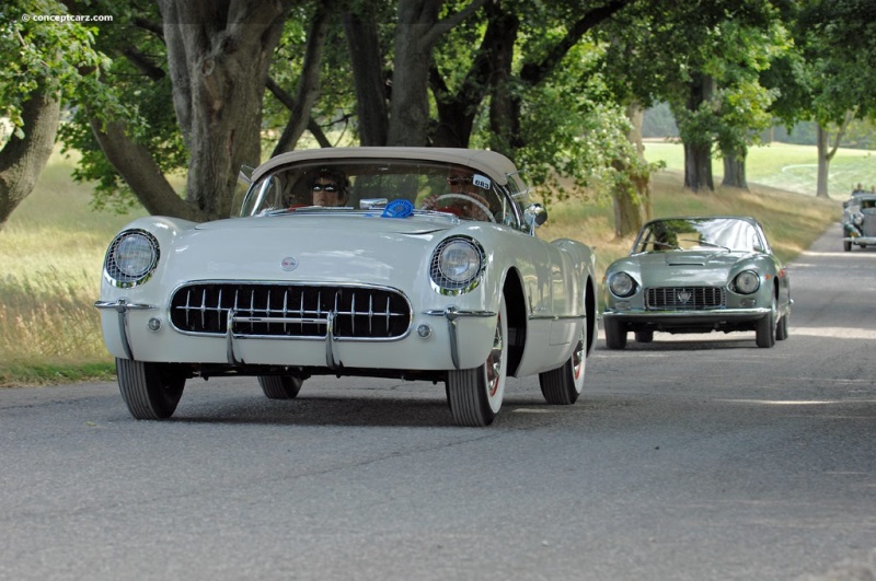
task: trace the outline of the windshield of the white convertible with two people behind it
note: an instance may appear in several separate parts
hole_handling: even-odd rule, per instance
[[[241,216],[374,210],[406,200],[414,210],[521,228],[519,184],[510,191],[460,165],[414,160],[320,160],[279,167],[250,186]]]

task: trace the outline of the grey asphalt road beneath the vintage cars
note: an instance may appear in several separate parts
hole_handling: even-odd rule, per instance
[[[876,249],[791,268],[791,337],[657,334],[486,429],[443,387],[189,382],[174,419],[115,384],[0,390],[0,579],[784,580],[876,547]]]

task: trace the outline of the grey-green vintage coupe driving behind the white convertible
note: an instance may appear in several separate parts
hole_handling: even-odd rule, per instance
[[[788,274],[752,218],[653,220],[609,266],[604,289],[609,349],[626,347],[630,332],[650,342],[655,332],[753,330],[758,347],[788,336]]]

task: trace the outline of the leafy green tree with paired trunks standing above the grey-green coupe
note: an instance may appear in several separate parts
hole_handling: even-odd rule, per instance
[[[772,98],[757,73],[781,38],[777,19],[770,0],[658,0],[637,2],[611,30],[611,70],[629,84],[630,98],[672,108],[688,188],[714,189],[716,149],[734,158],[736,184],[744,183],[747,144]]]

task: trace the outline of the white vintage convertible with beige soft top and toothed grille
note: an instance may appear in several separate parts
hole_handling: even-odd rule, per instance
[[[573,404],[595,256],[537,237],[527,193],[491,151],[336,148],[264,163],[238,218],[135,220],[95,303],[128,410],[169,418],[187,380],[219,375],[275,399],[312,375],[443,382],[463,426],[493,421],[508,376]]]

